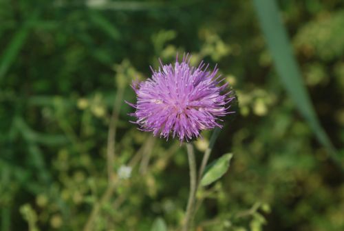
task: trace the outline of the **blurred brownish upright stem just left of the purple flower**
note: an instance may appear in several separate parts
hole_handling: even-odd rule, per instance
[[[109,124],[109,133],[107,135],[107,175],[109,184],[114,181],[114,161],[115,161],[115,145],[116,145],[116,130],[119,116],[120,106],[122,106],[122,98],[125,88],[119,85],[116,92],[116,99],[112,108],[112,114]]]

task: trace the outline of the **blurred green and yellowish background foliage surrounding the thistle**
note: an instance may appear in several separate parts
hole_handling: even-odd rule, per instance
[[[344,3],[279,6],[343,157]],[[122,100],[135,101],[131,81],[177,52],[218,63],[240,106],[211,155],[232,152],[230,169],[197,193],[195,230],[344,230],[343,174],[277,77],[251,1],[1,0],[0,21],[0,230],[83,230],[94,208],[92,230],[180,227],[186,150],[138,131]],[[195,141],[198,163],[210,134]],[[129,178],[121,166],[131,166]]]

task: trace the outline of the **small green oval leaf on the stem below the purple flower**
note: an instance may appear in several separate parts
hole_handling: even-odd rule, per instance
[[[209,163],[204,170],[204,175],[201,180],[201,185],[206,186],[214,181],[217,181],[221,178],[228,170],[230,159],[232,159],[233,154],[228,153],[224,154],[219,159],[216,159],[212,163]]]

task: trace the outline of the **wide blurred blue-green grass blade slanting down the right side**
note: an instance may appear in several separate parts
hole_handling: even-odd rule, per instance
[[[327,149],[331,159],[338,165],[341,165],[341,158],[336,154],[334,146],[321,127],[308,92],[303,85],[301,71],[299,70],[297,61],[292,54],[288,34],[281,21],[276,1],[253,0],[253,2],[255,9],[257,10],[261,29],[264,32],[266,43],[270,53],[272,54],[275,68],[284,87],[296,104],[299,112],[301,112],[316,134],[319,142]]]

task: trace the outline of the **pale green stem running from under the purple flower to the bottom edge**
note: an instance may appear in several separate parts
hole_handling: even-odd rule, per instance
[[[197,190],[197,170],[195,152],[193,151],[193,144],[186,143],[186,150],[188,151],[189,169],[190,169],[190,193],[188,205],[186,206],[185,221],[182,230],[188,231],[192,220],[193,207],[195,205],[195,197]]]

